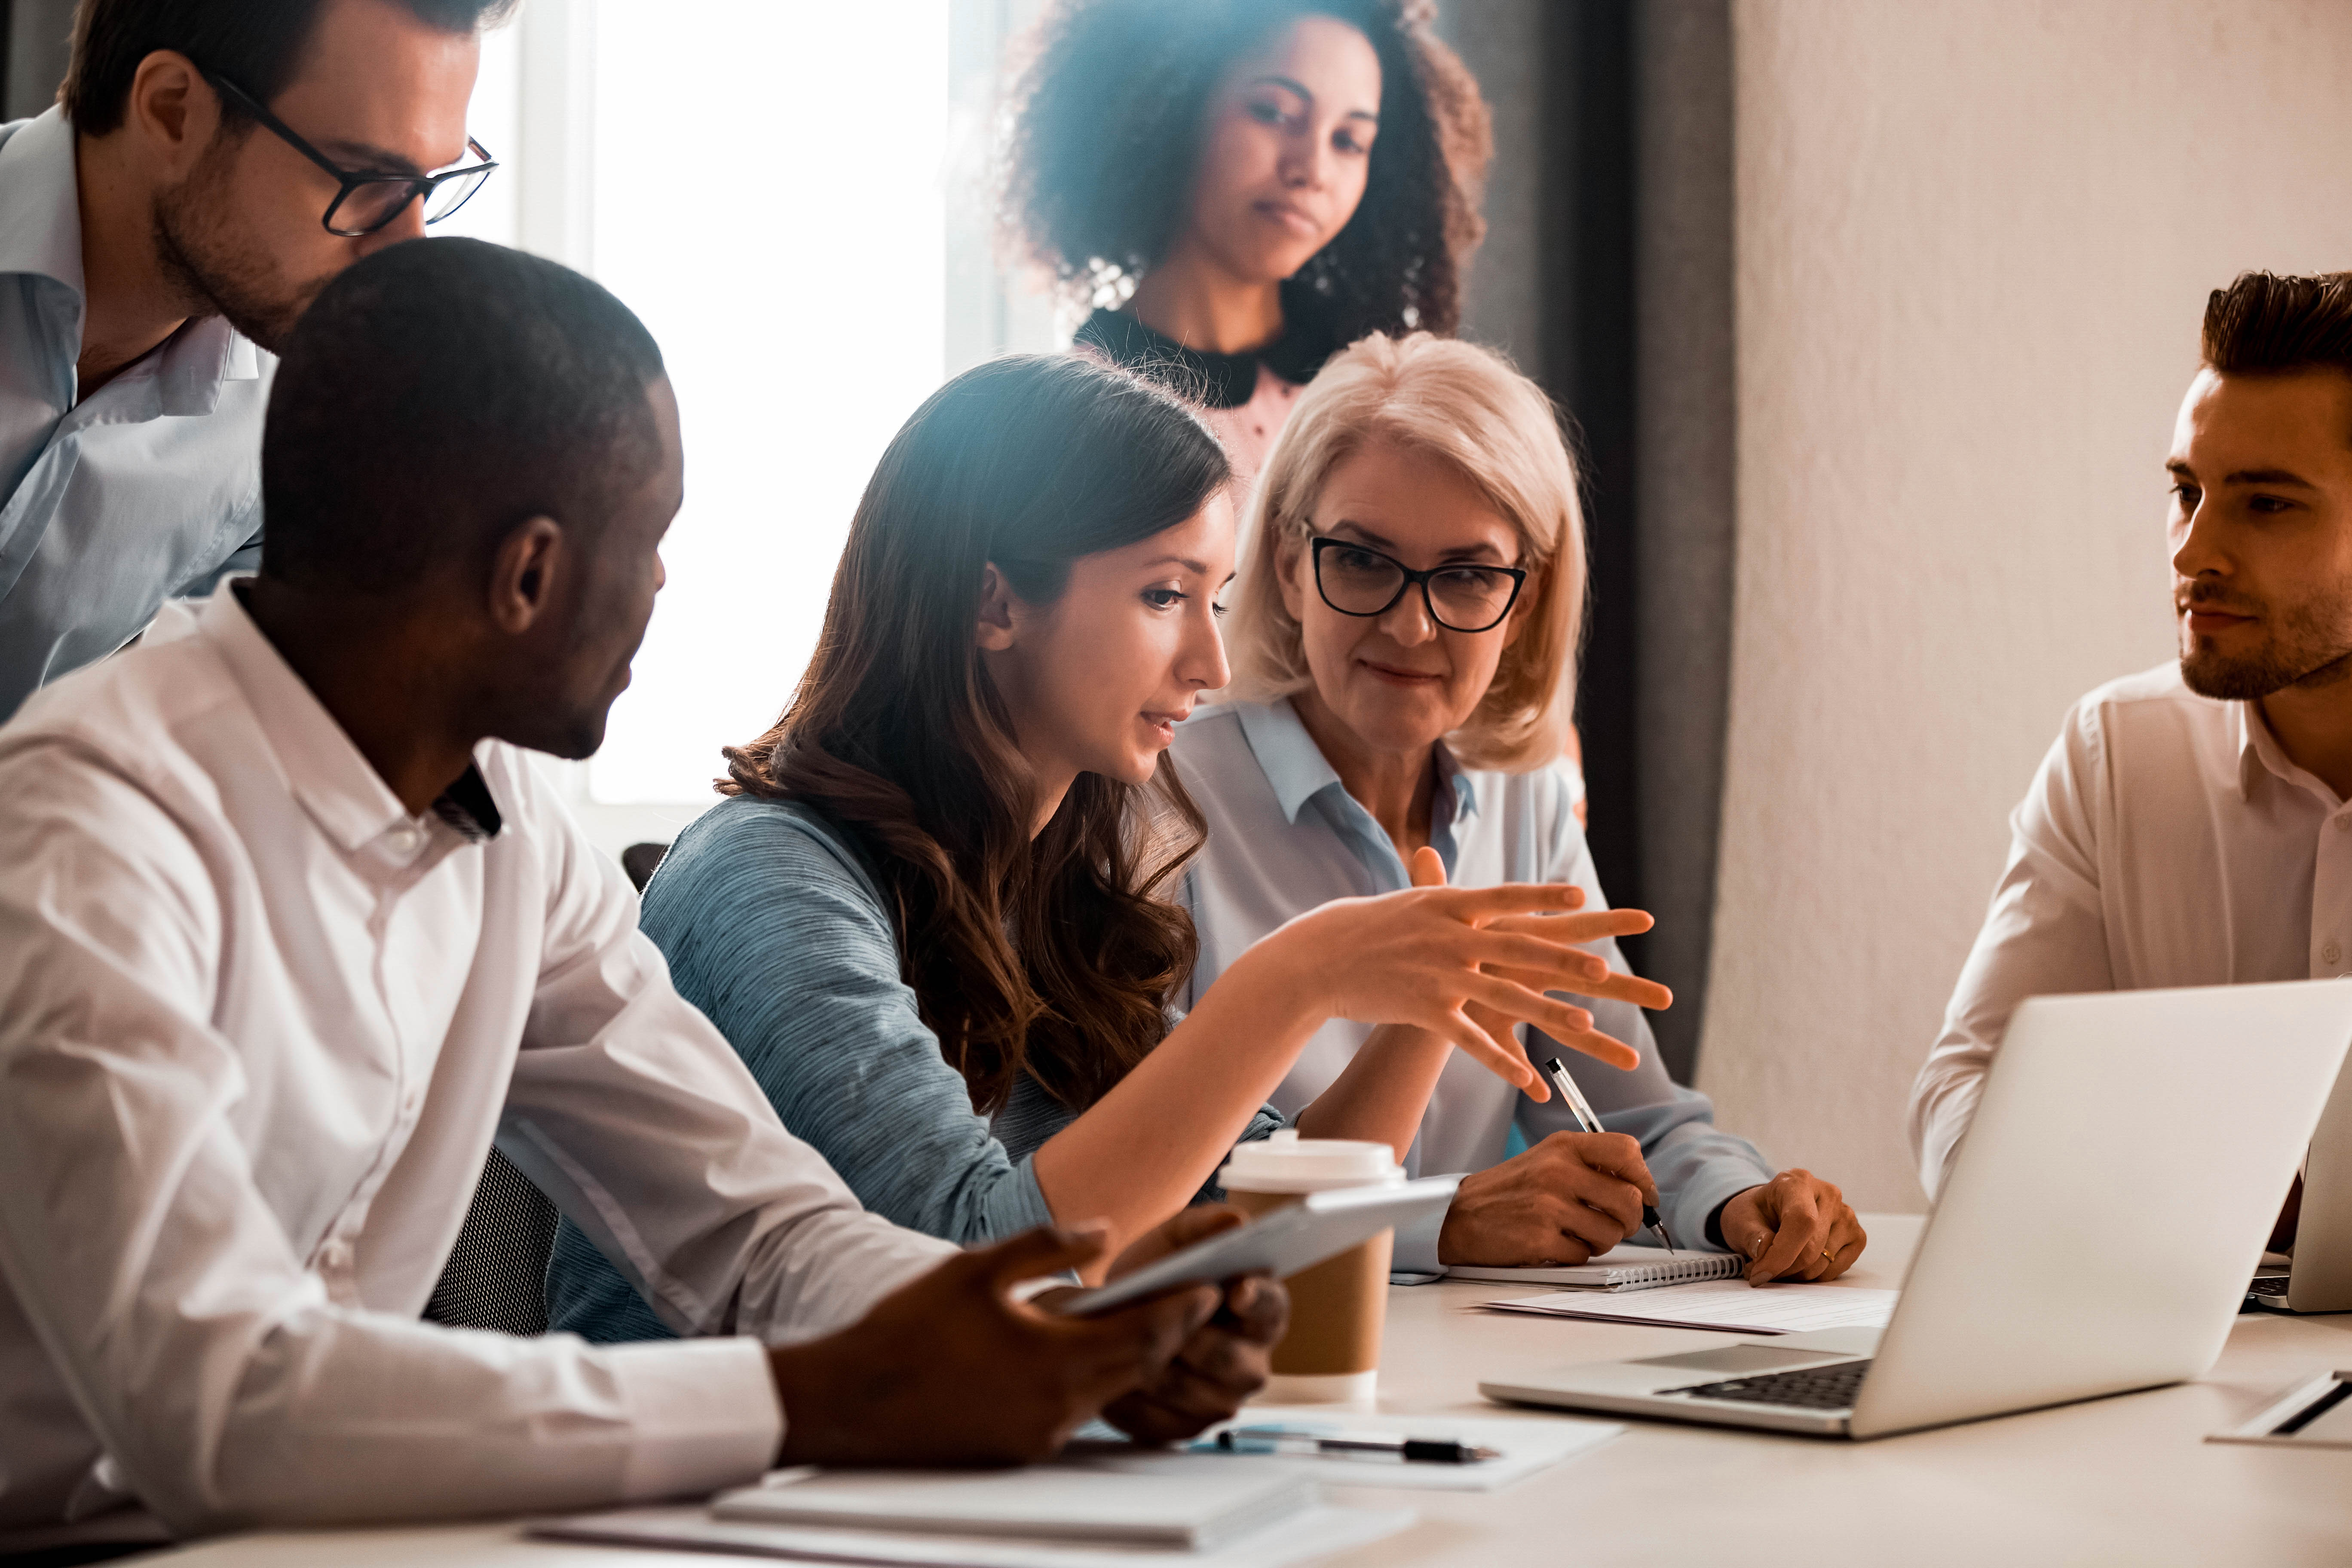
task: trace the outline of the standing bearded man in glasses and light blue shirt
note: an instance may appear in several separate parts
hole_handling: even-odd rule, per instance
[[[261,550],[273,353],[329,277],[496,167],[513,0],[82,0],[0,127],[0,719]]]

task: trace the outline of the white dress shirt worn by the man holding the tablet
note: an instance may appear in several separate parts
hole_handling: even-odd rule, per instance
[[[783,1131],[522,752],[409,816],[233,585],[0,729],[0,1530],[757,1476],[757,1338],[419,1321],[492,1138],[680,1333],[953,1255]]]

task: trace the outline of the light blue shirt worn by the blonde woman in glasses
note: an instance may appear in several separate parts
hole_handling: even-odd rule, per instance
[[[1287,701],[1202,708],[1176,726],[1169,755],[1209,818],[1209,842],[1183,882],[1183,900],[1200,931],[1200,961],[1185,1006],[1251,943],[1296,914],[1334,898],[1411,886],[1397,846],[1348,795]],[[1444,858],[1454,886],[1571,882],[1585,891],[1588,910],[1609,907],[1576,823],[1566,769],[1463,769],[1444,745],[1437,748],[1437,769],[1442,783],[1430,802],[1430,846]],[[1588,952],[1609,959],[1611,969],[1625,966],[1613,940],[1590,943]],[[1630,1001],[1578,1001],[1592,1009],[1602,1032],[1639,1051],[1642,1063],[1621,1072],[1562,1051],[1564,1065],[1592,1100],[1602,1126],[1642,1145],[1675,1241],[1708,1246],[1715,1211],[1771,1180],[1771,1166],[1748,1140],[1717,1131],[1715,1107],[1703,1093],[1665,1074],[1642,1009]],[[1371,1025],[1345,1018],[1315,1030],[1275,1091],[1275,1110],[1296,1121],[1345,1072],[1367,1034]],[[1541,1034],[1534,1039],[1545,1044]],[[1543,1060],[1541,1051],[1536,1060]],[[1505,1159],[1512,1128],[1534,1145],[1550,1133],[1576,1131],[1576,1119],[1557,1093],[1536,1105],[1456,1051],[1437,1077],[1404,1166],[1414,1175],[1484,1171]],[[1435,1269],[1442,1225],[1444,1215],[1432,1215],[1428,1225],[1397,1232],[1397,1267]]]

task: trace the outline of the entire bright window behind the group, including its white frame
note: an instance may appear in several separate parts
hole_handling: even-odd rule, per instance
[[[499,179],[435,233],[524,244],[644,317],[677,388],[668,588],[567,790],[607,846],[713,802],[816,646],[889,437],[950,369],[1049,348],[983,200],[988,94],[1035,0],[534,0],[485,40]]]

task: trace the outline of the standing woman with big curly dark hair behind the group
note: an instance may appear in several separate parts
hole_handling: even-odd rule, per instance
[[[1242,498],[1331,353],[1461,317],[1486,106],[1432,16],[1061,0],[1030,42],[1007,223],[1098,306],[1082,346],[1204,404]]]

